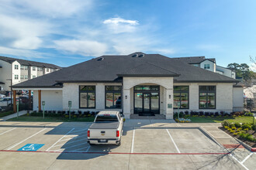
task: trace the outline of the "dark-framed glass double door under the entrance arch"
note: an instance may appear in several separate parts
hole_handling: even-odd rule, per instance
[[[159,93],[135,92],[134,114],[159,114]]]

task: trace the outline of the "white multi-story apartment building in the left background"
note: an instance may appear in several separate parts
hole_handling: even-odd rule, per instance
[[[0,91],[10,91],[11,82],[12,85],[22,83],[60,69],[50,63],[0,56]]]

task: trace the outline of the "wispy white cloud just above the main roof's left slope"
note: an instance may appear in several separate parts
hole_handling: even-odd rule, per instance
[[[96,41],[63,39],[54,42],[56,49],[82,56],[101,56],[107,50],[106,44]]]

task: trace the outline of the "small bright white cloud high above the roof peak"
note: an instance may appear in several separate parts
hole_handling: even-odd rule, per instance
[[[123,32],[135,32],[136,26],[139,25],[137,20],[129,20],[129,19],[122,19],[122,18],[111,18],[106,19],[104,22],[108,29],[112,33],[123,33]]]

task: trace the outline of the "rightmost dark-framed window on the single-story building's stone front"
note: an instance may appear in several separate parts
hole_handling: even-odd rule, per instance
[[[199,109],[216,108],[216,86],[199,86]]]

